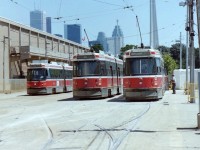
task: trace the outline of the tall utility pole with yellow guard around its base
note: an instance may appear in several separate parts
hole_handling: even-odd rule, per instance
[[[194,59],[194,0],[190,0],[189,3],[189,50],[190,50],[190,103],[195,102],[195,86],[194,86],[194,69],[195,69],[195,59]]]

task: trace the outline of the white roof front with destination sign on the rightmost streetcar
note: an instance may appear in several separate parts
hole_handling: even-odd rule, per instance
[[[162,57],[162,55],[159,50],[142,48],[127,50],[124,54],[124,58],[134,57]]]

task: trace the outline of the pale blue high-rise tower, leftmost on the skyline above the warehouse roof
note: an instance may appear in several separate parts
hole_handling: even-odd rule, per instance
[[[46,31],[45,12],[34,10],[30,12],[30,26],[42,31]]]

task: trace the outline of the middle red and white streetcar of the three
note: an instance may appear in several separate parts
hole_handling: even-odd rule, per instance
[[[104,52],[73,57],[73,97],[101,98],[122,93],[123,61]]]

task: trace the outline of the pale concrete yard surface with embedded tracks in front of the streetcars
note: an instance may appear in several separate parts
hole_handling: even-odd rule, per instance
[[[0,94],[0,149],[199,150],[198,111],[183,91],[152,102]]]

